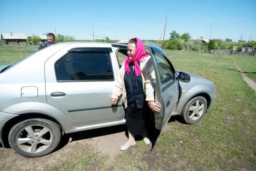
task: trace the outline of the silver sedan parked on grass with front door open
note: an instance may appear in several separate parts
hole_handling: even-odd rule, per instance
[[[174,115],[197,123],[216,98],[215,84],[175,71],[164,51],[147,42],[156,73],[155,128]],[[0,142],[24,157],[51,153],[64,134],[125,123],[111,93],[127,45],[58,43],[14,65],[0,66]]]

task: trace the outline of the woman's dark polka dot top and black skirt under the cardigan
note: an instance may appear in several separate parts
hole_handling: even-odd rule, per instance
[[[138,62],[140,65],[140,62]],[[124,74],[126,97],[128,107],[126,108],[126,126],[133,135],[147,132],[145,128],[145,114],[149,114],[149,108],[145,101],[142,76],[137,77],[133,69],[133,63],[129,64],[130,73]],[[148,113],[147,113],[147,112]]]

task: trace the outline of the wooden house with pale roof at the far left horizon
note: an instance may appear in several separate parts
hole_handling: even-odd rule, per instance
[[[26,44],[27,38],[25,34],[20,33],[2,33],[1,40],[3,44]]]

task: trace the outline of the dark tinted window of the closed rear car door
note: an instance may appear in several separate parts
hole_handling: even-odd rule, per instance
[[[56,62],[55,69],[58,81],[114,81],[106,51],[70,51]]]

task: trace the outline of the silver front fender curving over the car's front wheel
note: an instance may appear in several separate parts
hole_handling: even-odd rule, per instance
[[[210,97],[209,92],[211,92],[211,89],[210,89],[210,87],[208,87],[206,85],[197,85],[197,86],[189,89],[188,91],[181,88],[181,97],[179,99],[177,108],[174,111],[174,115],[179,115],[182,111],[182,108],[193,96],[203,93],[203,94],[208,94],[208,96]]]

